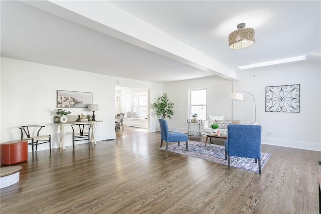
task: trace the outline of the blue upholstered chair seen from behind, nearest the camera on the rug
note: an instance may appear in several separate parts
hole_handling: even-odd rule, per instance
[[[225,159],[228,159],[230,170],[230,156],[258,159],[261,174],[261,126],[231,124],[227,126],[227,140],[225,141]]]

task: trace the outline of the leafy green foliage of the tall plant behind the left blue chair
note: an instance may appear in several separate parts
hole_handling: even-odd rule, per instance
[[[172,110],[173,106],[174,103],[169,102],[167,94],[165,93],[162,97],[159,97],[156,102],[151,104],[151,109],[155,110],[157,117],[161,117],[162,119],[168,117],[171,119],[171,115],[174,115]]]

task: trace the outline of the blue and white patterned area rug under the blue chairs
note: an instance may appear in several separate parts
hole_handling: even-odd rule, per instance
[[[160,149],[165,150],[166,147]],[[227,165],[225,147],[220,145],[211,144],[211,146],[205,146],[204,142],[189,141],[189,151],[186,151],[185,142],[181,142],[180,146],[178,143],[169,145],[168,151]],[[261,153],[261,168],[263,168],[270,155],[270,153]],[[255,163],[253,158],[230,156],[230,166],[254,172],[259,171],[258,163]]]

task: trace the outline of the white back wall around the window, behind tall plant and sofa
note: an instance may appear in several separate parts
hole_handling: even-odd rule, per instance
[[[174,115],[167,119],[169,127],[173,131],[187,132],[188,115],[188,90],[207,88],[209,99],[208,115],[224,115],[224,118],[232,118],[232,102],[229,100],[233,82],[221,77],[201,78],[195,80],[178,81],[164,84],[164,93],[167,93],[169,101],[174,103]],[[193,126],[193,127],[192,127]],[[191,129],[197,130],[198,126],[192,124]]]

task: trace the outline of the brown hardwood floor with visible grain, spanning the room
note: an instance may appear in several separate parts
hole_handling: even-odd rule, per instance
[[[320,152],[262,144],[271,156],[259,175],[159,145],[159,133],[125,127],[90,150],[29,154],[20,181],[1,189],[1,213],[319,212]]]

